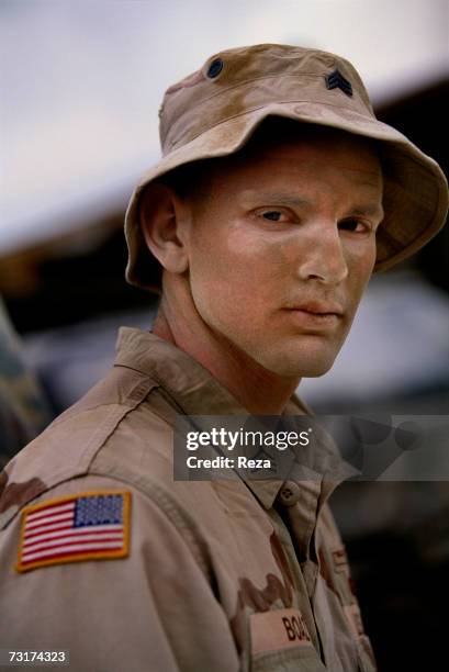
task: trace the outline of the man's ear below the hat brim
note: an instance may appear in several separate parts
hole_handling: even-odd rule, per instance
[[[149,250],[160,265],[172,273],[189,267],[186,249],[186,223],[190,209],[172,189],[153,182],[141,197],[141,231]]]

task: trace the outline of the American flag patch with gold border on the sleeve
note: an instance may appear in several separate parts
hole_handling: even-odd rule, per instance
[[[130,492],[86,492],[27,506],[15,569],[124,558],[128,555]]]

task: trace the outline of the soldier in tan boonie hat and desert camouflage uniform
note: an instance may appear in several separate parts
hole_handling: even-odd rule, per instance
[[[3,472],[0,641],[79,671],[375,670],[330,457],[306,481],[173,481],[173,423],[307,413],[301,377],[333,365],[372,270],[442,225],[445,178],[315,49],[213,56],[160,135],[125,223],[156,323]]]

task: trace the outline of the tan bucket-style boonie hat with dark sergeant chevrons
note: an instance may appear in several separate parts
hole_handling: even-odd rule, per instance
[[[138,200],[169,170],[240,149],[268,116],[340,128],[383,143],[385,216],[374,270],[390,268],[444,225],[446,178],[438,164],[402,133],[378,121],[350,63],[317,49],[259,44],[221,52],[170,87],[159,112],[162,158],[135,189],[126,212],[126,279],[155,289],[159,268],[144,242]]]

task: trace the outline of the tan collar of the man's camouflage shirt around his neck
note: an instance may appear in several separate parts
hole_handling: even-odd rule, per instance
[[[180,414],[249,415],[231,392],[197,360],[151,332],[121,327],[116,349],[115,366],[135,369],[150,377],[162,388]],[[283,415],[312,415],[312,412],[293,394]],[[310,475],[313,480],[323,481],[323,473],[326,471],[325,462],[329,458],[328,450],[322,447],[318,455],[314,455],[314,461],[315,458],[316,463],[319,463],[319,469],[311,469]],[[330,460],[334,459],[335,455],[330,457]],[[343,478],[339,478],[334,486],[341,480]],[[334,482],[335,479],[333,478],[332,481]],[[330,481],[326,482],[325,490],[328,491]],[[273,505],[283,484],[276,480],[254,480],[245,481],[245,483],[267,509]]]

